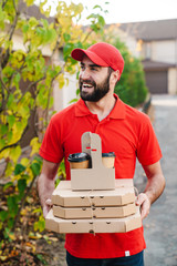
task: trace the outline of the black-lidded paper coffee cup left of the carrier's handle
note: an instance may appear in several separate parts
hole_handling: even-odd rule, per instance
[[[67,157],[71,168],[88,168],[91,156],[87,153],[73,153]]]

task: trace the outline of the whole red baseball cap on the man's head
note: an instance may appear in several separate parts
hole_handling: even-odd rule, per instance
[[[122,74],[124,69],[124,59],[115,47],[105,42],[98,42],[88,49],[76,48],[72,51],[71,57],[76,61],[82,61],[87,55],[92,62],[101,66],[111,66],[114,71],[119,70]]]

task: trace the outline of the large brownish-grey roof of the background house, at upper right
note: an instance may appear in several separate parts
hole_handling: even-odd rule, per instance
[[[122,23],[119,28],[144,41],[177,39],[177,19]]]

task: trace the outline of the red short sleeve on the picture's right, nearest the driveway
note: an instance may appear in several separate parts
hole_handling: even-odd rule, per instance
[[[162,158],[162,151],[153,129],[153,125],[147,119],[146,125],[139,135],[137,146],[137,158],[142,165],[150,165]]]

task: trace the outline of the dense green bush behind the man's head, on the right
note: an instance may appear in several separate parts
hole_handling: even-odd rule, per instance
[[[137,106],[145,101],[147,95],[140,60],[131,55],[126,45],[118,39],[115,40],[114,45],[118,48],[125,60],[124,71],[115,88],[115,93],[125,103]]]

